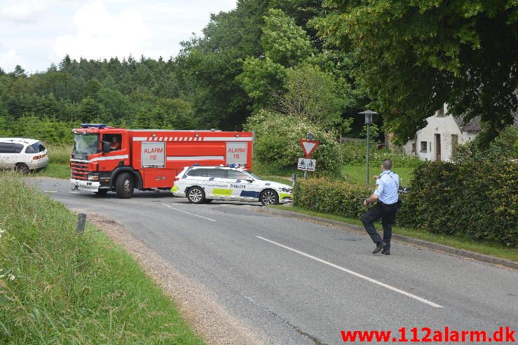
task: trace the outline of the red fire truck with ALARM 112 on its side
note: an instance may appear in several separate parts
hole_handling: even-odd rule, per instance
[[[251,132],[122,129],[83,124],[73,129],[70,157],[73,189],[123,199],[133,190],[169,190],[175,176],[191,165],[236,164],[252,168]]]

